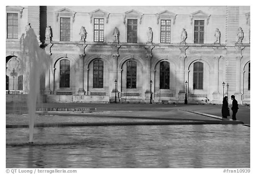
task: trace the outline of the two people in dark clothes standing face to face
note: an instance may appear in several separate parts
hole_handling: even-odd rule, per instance
[[[236,112],[238,111],[238,104],[235,99],[235,96],[231,96],[232,100],[232,120],[236,120]],[[228,118],[227,116],[230,116],[229,114],[229,108],[228,108],[228,96],[225,96],[222,101],[222,108],[221,108],[221,113],[223,118]]]

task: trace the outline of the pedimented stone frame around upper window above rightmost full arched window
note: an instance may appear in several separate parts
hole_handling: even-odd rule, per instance
[[[203,11],[199,10],[197,12],[193,12],[189,15],[190,17],[190,25],[192,25],[192,43],[194,43],[194,25],[195,25],[195,20],[204,20],[204,43],[207,43],[207,25],[209,24],[209,19],[211,15],[208,15],[204,13]],[[204,43],[199,43],[199,44],[204,44]],[[196,43],[197,44],[197,43]]]

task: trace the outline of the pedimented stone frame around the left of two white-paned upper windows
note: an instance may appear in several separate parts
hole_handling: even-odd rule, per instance
[[[106,42],[106,24],[108,24],[108,17],[110,15],[109,12],[105,12],[101,10],[100,8],[97,8],[96,10],[93,10],[92,12],[88,12],[90,15],[90,23],[92,24],[92,40],[94,42],[94,19],[104,19],[104,41]]]

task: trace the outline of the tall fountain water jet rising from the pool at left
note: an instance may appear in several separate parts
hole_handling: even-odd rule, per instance
[[[31,28],[23,39],[22,69],[29,74],[28,115],[29,115],[29,144],[33,143],[34,118],[36,101],[40,94],[40,77],[50,66],[50,56],[40,48],[36,34]]]

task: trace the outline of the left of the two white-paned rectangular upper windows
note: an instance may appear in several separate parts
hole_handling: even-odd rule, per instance
[[[94,19],[94,42],[104,42],[104,19]]]

